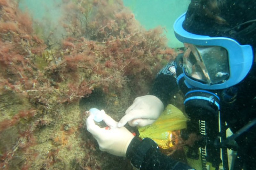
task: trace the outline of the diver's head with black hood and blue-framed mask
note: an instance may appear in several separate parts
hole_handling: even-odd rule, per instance
[[[256,1],[192,0],[174,23],[186,81],[203,89],[224,89],[241,82],[256,49]]]

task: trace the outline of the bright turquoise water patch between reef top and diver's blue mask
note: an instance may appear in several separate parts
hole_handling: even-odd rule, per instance
[[[124,5],[133,11],[145,28],[163,26],[167,30],[169,47],[182,46],[174,36],[173,23],[187,10],[189,3],[190,0],[124,0]]]

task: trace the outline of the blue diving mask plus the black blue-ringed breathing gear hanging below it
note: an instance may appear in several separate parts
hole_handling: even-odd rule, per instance
[[[219,116],[222,114],[220,97],[211,90],[225,91],[245,78],[253,63],[252,47],[240,45],[226,37],[189,33],[182,27],[185,15],[181,15],[174,23],[176,38],[187,48],[183,55],[184,74],[177,77],[177,83],[185,89],[183,91],[181,88],[185,94],[185,112],[191,118],[188,130],[198,124],[204,141],[200,146],[202,167],[206,167],[206,161],[218,167],[221,162],[220,149],[213,146],[213,141],[219,134]],[[225,120],[220,120],[220,125],[225,124]],[[195,151],[198,151],[197,147]]]

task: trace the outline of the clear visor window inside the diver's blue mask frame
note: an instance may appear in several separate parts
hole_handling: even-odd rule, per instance
[[[197,46],[184,43],[184,73],[204,84],[220,84],[229,78],[228,52],[220,46]]]

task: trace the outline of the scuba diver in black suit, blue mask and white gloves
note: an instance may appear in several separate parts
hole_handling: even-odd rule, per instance
[[[140,140],[124,128],[127,122],[152,124],[181,91],[190,118],[181,133],[200,136],[187,157],[201,157],[202,169],[206,162],[215,169],[221,163],[223,169],[255,169],[256,1],[191,0],[174,32],[185,52],[160,70],[149,95],[136,98],[119,122],[106,115],[108,130],[89,116],[87,130],[101,151],[127,157],[137,169],[193,169],[162,154],[152,139]],[[236,152],[231,167],[227,149]]]

